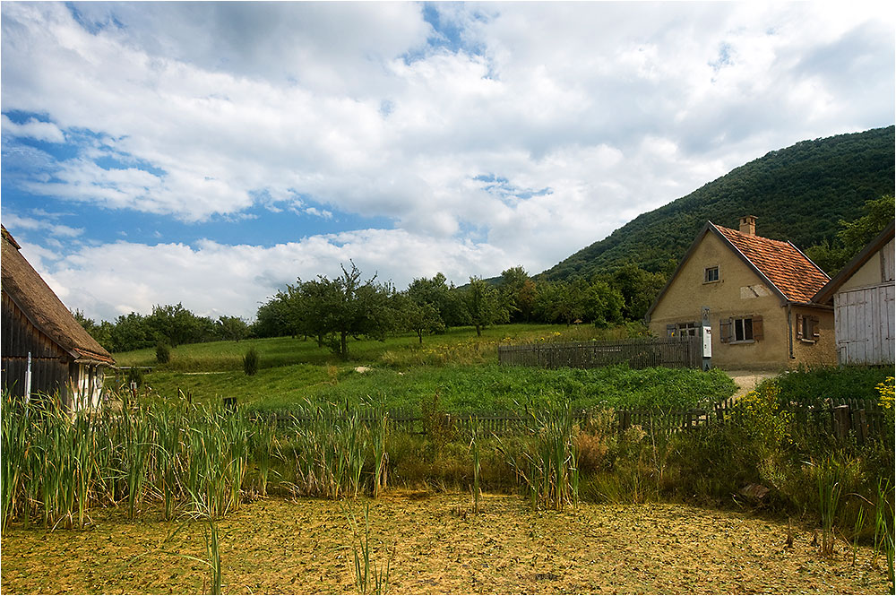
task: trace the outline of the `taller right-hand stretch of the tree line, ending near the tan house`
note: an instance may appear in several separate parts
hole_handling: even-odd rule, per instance
[[[502,272],[496,283],[478,277],[462,287],[444,274],[390,283],[363,280],[354,263],[335,279],[297,280],[259,307],[257,337],[284,334],[314,339],[345,357],[349,338],[382,340],[386,333],[431,333],[473,326],[478,335],[502,323],[586,323],[598,326],[640,320],[665,283],[665,276],[633,263],[590,281],[536,281],[521,267]]]

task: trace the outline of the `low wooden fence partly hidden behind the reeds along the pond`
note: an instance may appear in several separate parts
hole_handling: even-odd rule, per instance
[[[709,409],[686,410],[612,410],[616,416],[616,428],[623,432],[633,426],[640,426],[649,432],[673,433],[694,430],[709,425],[725,424],[734,410],[734,399],[717,402]],[[391,428],[401,428],[409,433],[426,434],[426,428],[438,426],[448,432],[469,436],[477,428],[479,436],[507,436],[536,432],[538,420],[531,412],[478,411],[466,414],[439,413],[430,419],[410,409],[385,410]],[[882,436],[886,425],[883,410],[873,400],[835,401],[817,408],[795,407],[784,410],[790,413],[798,426],[811,426],[822,432],[829,432],[839,439],[853,437],[859,443],[874,436]],[[380,419],[383,410],[359,410],[358,419],[365,424],[373,424]],[[573,423],[585,426],[590,419],[599,415],[597,410],[573,411]],[[259,422],[268,421],[279,428],[301,427],[318,416],[289,411],[256,413],[252,415]],[[344,414],[335,414],[345,419]]]

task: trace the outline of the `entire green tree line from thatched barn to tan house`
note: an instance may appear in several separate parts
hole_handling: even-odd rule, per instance
[[[364,279],[354,263],[340,276],[288,284],[258,308],[251,324],[237,316],[213,319],[182,304],[156,306],[150,315],[130,313],[99,323],[73,313],[110,352],[153,346],[175,347],[203,341],[291,335],[313,339],[345,357],[349,339],[384,339],[387,333],[426,335],[472,326],[478,334],[503,323],[594,324],[609,326],[641,320],[666,281],[627,263],[591,280],[538,281],[521,266],[502,272],[496,282],[470,277],[456,287],[444,274],[411,281],[407,289]]]

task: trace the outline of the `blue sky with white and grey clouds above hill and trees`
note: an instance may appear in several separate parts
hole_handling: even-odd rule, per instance
[[[94,319],[530,274],[894,122],[883,3],[3,2],[0,219]]]

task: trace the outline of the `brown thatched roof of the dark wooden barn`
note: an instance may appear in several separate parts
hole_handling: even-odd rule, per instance
[[[13,236],[2,226],[0,229],[3,232],[3,277],[0,280],[3,293],[22,309],[31,324],[71,354],[76,361],[115,364],[112,355],[74,320],[62,300],[25,260]]]

